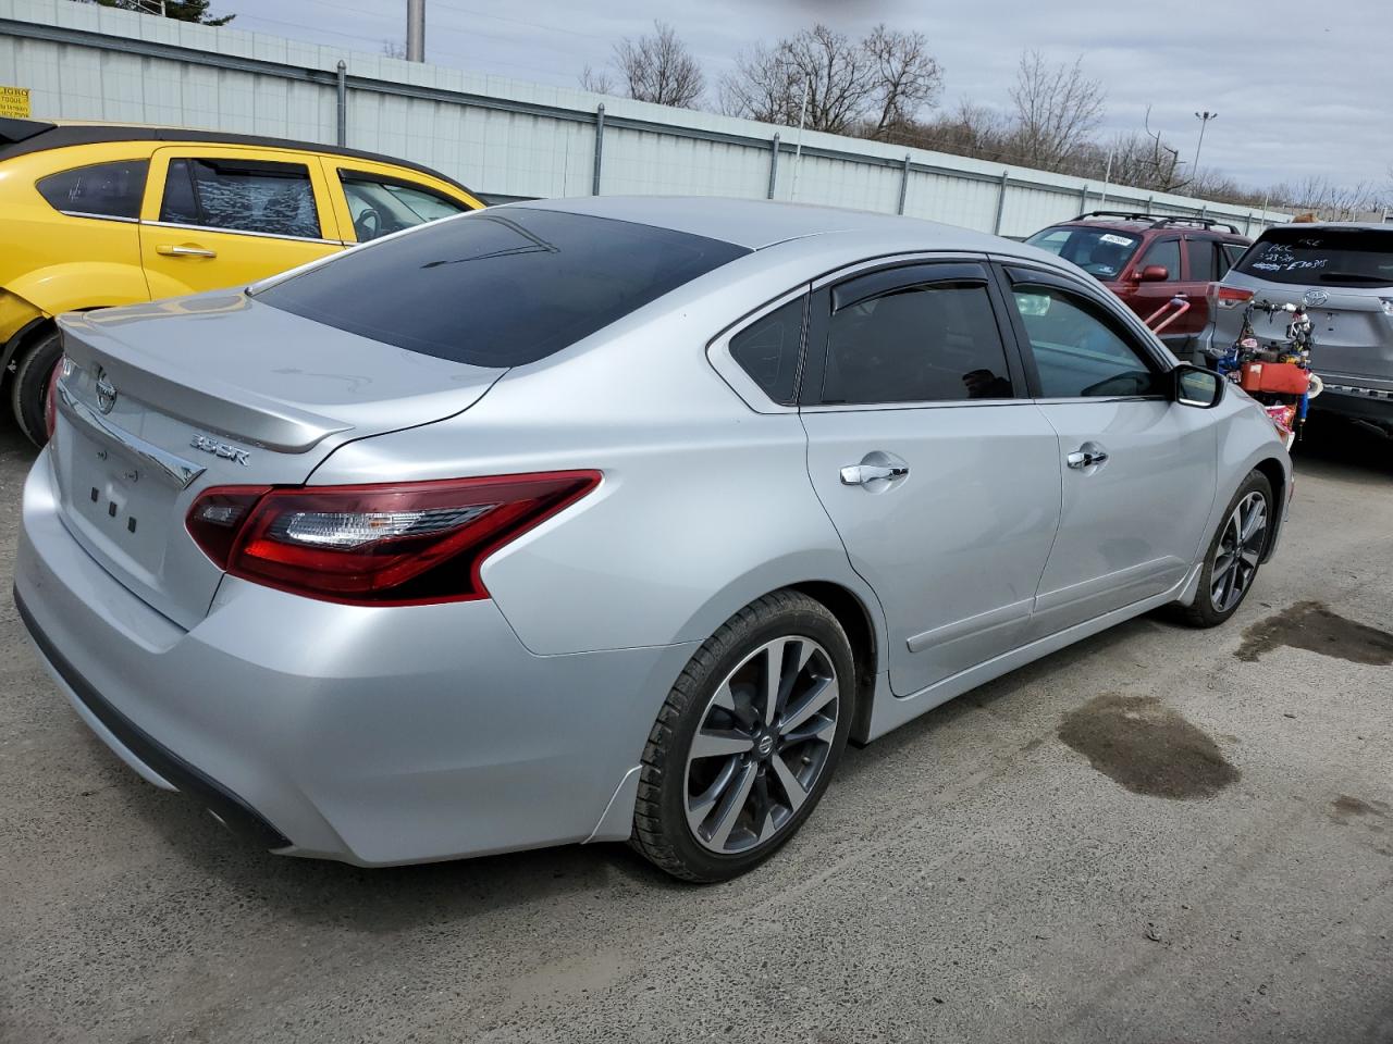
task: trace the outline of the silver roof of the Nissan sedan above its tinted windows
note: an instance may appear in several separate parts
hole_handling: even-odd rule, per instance
[[[975,232],[970,228],[924,221],[917,217],[814,206],[811,203],[780,203],[766,199],[730,199],[724,196],[577,196],[506,203],[493,207],[493,210],[507,210],[508,207],[564,210],[589,217],[632,221],[690,235],[703,235],[708,239],[722,239],[751,251],[814,235],[859,234],[857,238],[869,235],[883,239],[887,251],[942,249],[1011,253],[1059,264],[1059,259],[1045,251],[986,232]]]

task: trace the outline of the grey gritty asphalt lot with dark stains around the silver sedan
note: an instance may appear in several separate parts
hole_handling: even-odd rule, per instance
[[[1330,433],[1226,628],[1138,619],[848,750],[780,857],[688,888],[620,846],[249,852],[4,599],[0,1040],[1393,1041],[1390,629],[1393,444]]]

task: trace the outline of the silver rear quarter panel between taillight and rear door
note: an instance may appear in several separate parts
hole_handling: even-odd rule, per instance
[[[754,412],[706,359],[731,317],[787,290],[734,288],[719,309],[674,294],[666,315],[513,370],[451,420],[340,448],[311,482],[602,470],[595,493],[483,567],[534,653],[705,640],[808,580],[857,594],[883,647],[875,599],[814,494],[797,413]]]

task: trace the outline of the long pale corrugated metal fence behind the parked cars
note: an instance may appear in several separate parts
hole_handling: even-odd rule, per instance
[[[337,141],[496,196],[797,196],[1013,237],[1103,206],[1252,234],[1287,219],[70,0],[0,0],[0,84],[36,118]]]

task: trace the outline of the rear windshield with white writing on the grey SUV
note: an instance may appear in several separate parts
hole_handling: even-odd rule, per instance
[[[1269,228],[1234,266],[1268,283],[1393,285],[1393,228]]]

